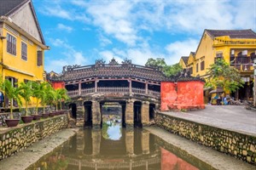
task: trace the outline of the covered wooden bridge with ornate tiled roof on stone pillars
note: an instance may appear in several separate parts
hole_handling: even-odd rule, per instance
[[[61,75],[48,79],[67,89],[78,124],[101,126],[102,105],[117,102],[122,106],[123,124],[133,127],[154,119],[154,110],[160,107],[160,82],[166,77],[160,68],[133,65],[129,59],[122,64],[99,59],[95,65],[64,66]]]

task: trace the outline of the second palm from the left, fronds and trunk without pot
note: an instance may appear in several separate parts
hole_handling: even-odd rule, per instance
[[[27,114],[27,105],[31,101],[32,97],[32,82],[20,82],[20,96],[25,100],[25,107],[26,107],[26,116]]]

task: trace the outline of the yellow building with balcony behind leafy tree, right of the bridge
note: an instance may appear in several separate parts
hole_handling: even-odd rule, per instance
[[[206,78],[207,68],[216,59],[224,59],[240,71],[246,82],[244,88],[230,95],[236,99],[252,99],[255,52],[256,33],[252,30],[205,30],[195,54],[189,55],[187,69],[194,77]]]

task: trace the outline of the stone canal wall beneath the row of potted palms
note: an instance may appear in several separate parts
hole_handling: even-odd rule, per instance
[[[24,150],[27,146],[58,132],[62,128],[66,128],[67,123],[67,115],[61,115],[1,130],[0,160]]]

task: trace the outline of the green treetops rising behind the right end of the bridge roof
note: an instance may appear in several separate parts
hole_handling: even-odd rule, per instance
[[[166,61],[163,58],[149,58],[145,66],[160,68],[160,70],[163,71],[166,77],[175,76],[183,70],[182,66],[180,66],[178,63],[175,65],[166,65]]]

